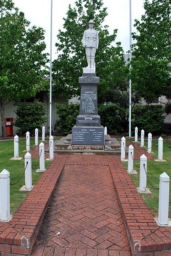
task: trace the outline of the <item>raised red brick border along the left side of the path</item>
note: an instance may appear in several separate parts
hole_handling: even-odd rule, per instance
[[[12,220],[0,222],[0,255],[30,255],[68,156],[56,155]]]

